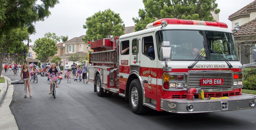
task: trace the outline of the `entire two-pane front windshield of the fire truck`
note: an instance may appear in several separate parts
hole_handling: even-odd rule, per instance
[[[205,31],[206,44],[228,61],[238,59],[234,38],[231,33]],[[172,47],[172,60],[193,60],[205,50],[203,31],[199,30],[164,30],[156,33],[158,58],[163,41],[169,41]],[[222,60],[216,53],[208,50],[211,61]],[[206,54],[201,60],[207,60]],[[201,61],[200,60],[200,61]]]

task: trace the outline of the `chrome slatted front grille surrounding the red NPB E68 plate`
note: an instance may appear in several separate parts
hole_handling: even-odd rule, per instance
[[[215,79],[223,78],[223,85],[209,85],[201,86],[201,79]],[[198,72],[188,74],[188,86],[189,88],[201,88],[201,89],[228,89],[233,85],[233,73],[221,73],[221,72]]]

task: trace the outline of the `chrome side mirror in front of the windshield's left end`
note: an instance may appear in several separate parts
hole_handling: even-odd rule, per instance
[[[171,48],[170,42],[164,41],[162,42],[162,47],[160,50],[160,60],[166,61],[166,60],[171,60],[171,58],[172,58],[172,48]]]

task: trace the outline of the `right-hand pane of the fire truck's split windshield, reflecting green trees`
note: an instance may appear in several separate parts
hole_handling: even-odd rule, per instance
[[[205,31],[205,35],[210,49],[214,49],[218,54],[228,61],[239,60],[232,34],[225,32]],[[222,60],[222,58],[210,51],[210,60]]]

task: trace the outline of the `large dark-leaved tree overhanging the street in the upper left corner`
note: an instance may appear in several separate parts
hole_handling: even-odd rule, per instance
[[[27,27],[29,34],[35,33],[33,24],[49,17],[51,14],[49,8],[53,8],[59,0],[0,0],[0,3],[0,70],[2,70],[6,49],[9,48],[10,43],[11,46],[16,44],[8,40],[10,32]],[[27,37],[20,41],[26,40]]]

